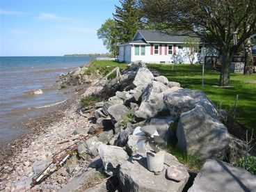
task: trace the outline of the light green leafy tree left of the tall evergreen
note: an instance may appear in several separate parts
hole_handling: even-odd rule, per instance
[[[106,22],[97,30],[97,36],[103,40],[103,45],[106,46],[114,56],[118,53],[117,47],[117,31],[116,23],[113,19],[106,19]]]

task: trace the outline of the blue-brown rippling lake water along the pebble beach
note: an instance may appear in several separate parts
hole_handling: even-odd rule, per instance
[[[0,146],[27,133],[22,122],[42,115],[47,106],[72,97],[58,90],[58,75],[86,65],[93,57],[0,57]],[[43,94],[31,95],[41,89]]]

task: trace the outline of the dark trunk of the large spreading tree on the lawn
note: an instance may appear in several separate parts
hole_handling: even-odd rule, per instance
[[[232,54],[228,49],[223,49],[221,60],[221,76],[219,86],[230,86],[230,63],[232,61]]]

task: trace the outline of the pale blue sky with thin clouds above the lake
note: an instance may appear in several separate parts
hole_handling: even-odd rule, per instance
[[[118,0],[0,0],[0,56],[108,52],[97,29]]]

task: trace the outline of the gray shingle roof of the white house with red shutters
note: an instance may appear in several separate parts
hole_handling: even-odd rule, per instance
[[[146,42],[184,42],[182,35],[170,35],[165,32],[153,30],[138,30]]]

